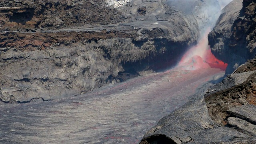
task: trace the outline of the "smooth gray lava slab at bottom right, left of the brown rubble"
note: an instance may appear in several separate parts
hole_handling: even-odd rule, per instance
[[[147,141],[149,144],[154,144],[154,142],[161,144],[163,142],[159,141],[160,137],[165,140],[165,143],[182,144],[225,142],[248,136],[231,128],[216,126],[208,114],[204,96],[199,95],[162,118],[145,134],[142,141]]]

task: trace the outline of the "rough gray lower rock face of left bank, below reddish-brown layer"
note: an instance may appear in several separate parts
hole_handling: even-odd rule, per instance
[[[73,32],[67,33],[72,36]],[[83,35],[86,32],[74,33],[75,36],[72,38],[78,38],[77,35],[80,33]],[[49,35],[53,36],[54,33]],[[100,34],[98,36],[100,37]],[[185,48],[177,48],[180,42],[175,43],[170,39],[141,38],[140,40],[137,34],[133,36],[139,40],[135,38],[99,39],[97,43],[92,41],[84,44],[68,44],[72,46],[71,48],[60,44],[60,46],[46,47],[44,50],[29,50],[29,45],[26,45],[27,49],[7,48],[1,54],[1,67],[4,70],[0,76],[1,99],[8,102],[13,95],[17,101],[22,102],[34,97],[47,100],[81,94],[104,84],[114,84],[132,78],[138,75],[137,71],[152,70],[157,65],[153,60],[168,62],[172,58],[177,59],[177,56],[170,52],[178,53],[185,50]],[[44,37],[45,40],[46,38]],[[62,38],[63,42],[68,42],[65,40],[65,35]],[[166,44],[158,47],[160,40]],[[167,45],[172,45],[172,50],[166,49]],[[140,65],[143,60],[149,63]],[[122,73],[127,76],[122,78]]]

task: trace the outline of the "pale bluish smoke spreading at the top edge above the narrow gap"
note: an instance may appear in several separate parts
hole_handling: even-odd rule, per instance
[[[183,12],[189,18],[194,17],[200,30],[200,35],[207,29],[213,29],[222,8],[232,0],[167,0],[170,9]]]

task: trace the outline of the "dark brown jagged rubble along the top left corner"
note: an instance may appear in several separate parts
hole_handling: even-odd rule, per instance
[[[103,0],[1,0],[1,31],[116,24],[126,18]]]

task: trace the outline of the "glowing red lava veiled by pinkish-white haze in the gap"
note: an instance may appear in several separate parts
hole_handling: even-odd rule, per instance
[[[207,38],[208,33],[206,32],[198,44],[190,48],[182,56],[178,67],[185,70],[197,70],[200,68],[219,68],[220,70],[226,70],[228,64],[218,60],[210,50]]]

